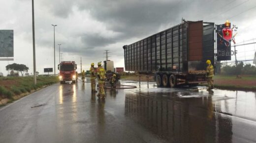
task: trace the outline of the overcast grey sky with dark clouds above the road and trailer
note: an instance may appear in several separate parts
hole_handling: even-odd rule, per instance
[[[236,42],[256,38],[256,0],[34,0],[36,71],[53,68],[53,26],[56,73],[59,46],[65,61],[76,61],[80,71],[104,61],[108,49],[115,67],[124,67],[123,46],[188,21],[238,26]],[[0,0],[0,29],[14,30],[14,61],[32,72],[32,0]],[[251,40],[251,41],[248,41]],[[255,40],[256,42],[256,40]],[[253,59],[255,45],[239,47],[238,59]],[[244,52],[247,51],[247,52]],[[233,58],[233,57],[232,57]],[[7,61],[0,72],[7,73]]]

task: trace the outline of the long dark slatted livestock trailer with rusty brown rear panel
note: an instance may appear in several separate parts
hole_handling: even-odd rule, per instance
[[[157,85],[197,85],[206,81],[206,60],[214,65],[214,23],[185,21],[125,45],[125,69],[154,75]]]

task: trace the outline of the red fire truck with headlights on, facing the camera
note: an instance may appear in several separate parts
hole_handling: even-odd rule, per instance
[[[63,61],[58,65],[58,70],[60,70],[60,82],[65,83],[66,81],[76,82],[76,69],[77,66],[74,61]]]

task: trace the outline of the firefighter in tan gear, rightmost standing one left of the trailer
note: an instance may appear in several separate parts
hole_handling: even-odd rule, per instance
[[[104,91],[104,84],[106,79],[106,71],[104,68],[101,67],[101,62],[98,62],[97,68],[97,78],[98,78],[98,86],[99,86],[99,93],[98,97],[101,99],[105,98],[105,91]]]

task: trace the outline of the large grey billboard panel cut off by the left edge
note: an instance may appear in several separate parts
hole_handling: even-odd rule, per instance
[[[13,57],[13,30],[0,30],[0,58]]]

